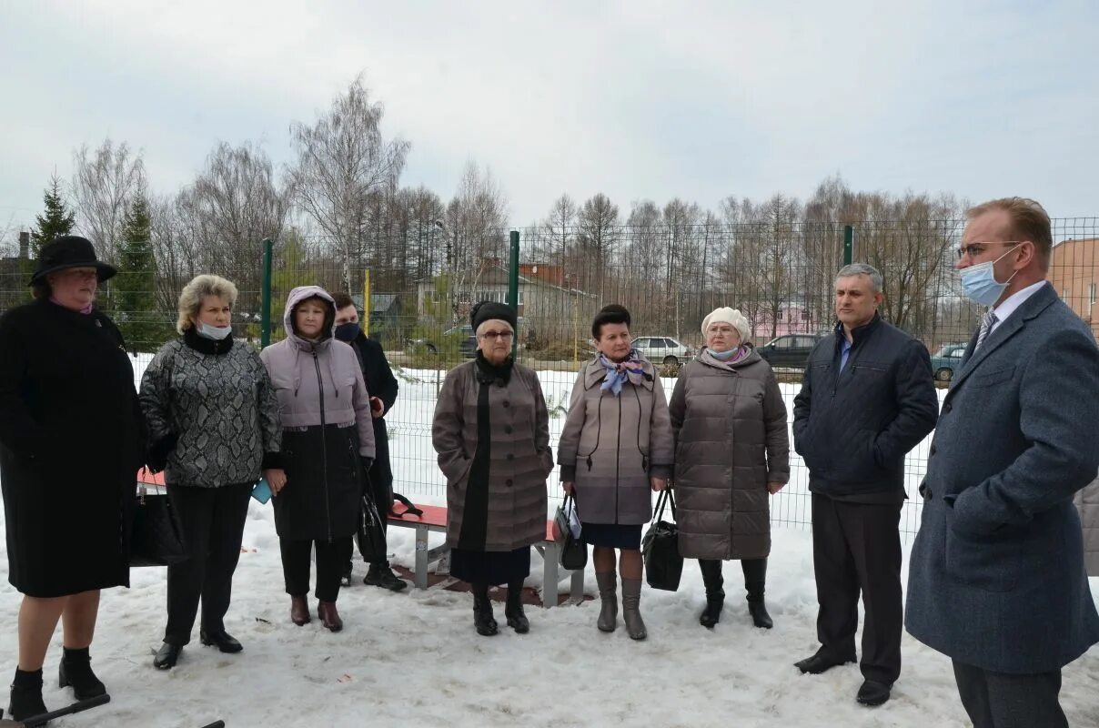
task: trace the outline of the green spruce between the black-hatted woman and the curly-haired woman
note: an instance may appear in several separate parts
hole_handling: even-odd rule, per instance
[[[119,274],[110,282],[111,312],[126,346],[155,352],[171,337],[156,310],[156,261],[149,233],[148,202],[134,197],[122,225]]]

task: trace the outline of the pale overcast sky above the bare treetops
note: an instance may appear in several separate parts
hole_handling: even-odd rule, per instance
[[[0,0],[0,230],[107,136],[158,192],[219,141],[286,163],[359,71],[403,186],[448,199],[475,159],[515,225],[563,191],[715,209],[835,173],[1099,216],[1097,38],[1095,0]]]

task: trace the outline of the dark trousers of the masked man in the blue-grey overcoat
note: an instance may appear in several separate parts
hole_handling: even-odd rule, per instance
[[[974,728],[1068,728],[1059,670],[1009,675],[954,661],[954,680]]]

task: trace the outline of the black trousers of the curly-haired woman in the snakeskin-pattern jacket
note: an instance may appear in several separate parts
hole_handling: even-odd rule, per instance
[[[168,498],[179,517],[190,559],[168,566],[168,626],[164,641],[182,647],[202,600],[202,629],[225,630],[233,591],[233,572],[241,558],[241,539],[248,516],[252,483],[203,488],[169,485]]]

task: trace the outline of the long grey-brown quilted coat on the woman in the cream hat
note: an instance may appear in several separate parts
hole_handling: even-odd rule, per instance
[[[679,553],[688,559],[764,559],[770,553],[767,483],[790,478],[786,405],[754,349],[725,364],[709,350],[671,393]]]

